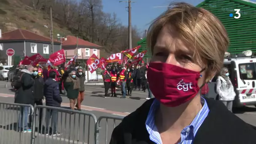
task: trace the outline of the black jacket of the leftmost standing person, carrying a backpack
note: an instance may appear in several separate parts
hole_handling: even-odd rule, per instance
[[[16,91],[14,103],[34,105],[34,83],[31,72],[22,69],[21,87]]]

